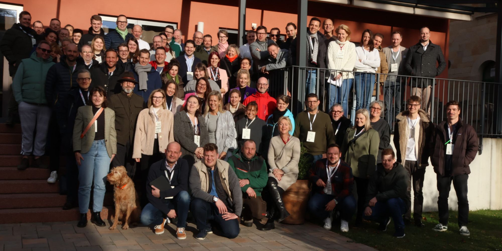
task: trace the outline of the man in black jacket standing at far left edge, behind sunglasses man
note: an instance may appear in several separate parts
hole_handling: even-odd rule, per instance
[[[33,46],[36,44],[38,35],[30,26],[31,14],[27,11],[21,12],[19,14],[19,23],[14,24],[11,29],[7,30],[0,42],[0,50],[9,61],[9,75],[12,78],[14,78],[14,74],[18,70],[21,60],[30,57]],[[12,124],[15,119],[19,120],[18,103],[14,99],[12,92],[8,116],[8,124]]]

